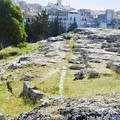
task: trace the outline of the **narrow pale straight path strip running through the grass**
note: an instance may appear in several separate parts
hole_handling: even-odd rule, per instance
[[[66,75],[66,67],[62,68],[62,72],[61,72],[61,77],[60,77],[60,84],[59,84],[59,94],[60,96],[63,96],[63,89],[64,89],[64,77]]]

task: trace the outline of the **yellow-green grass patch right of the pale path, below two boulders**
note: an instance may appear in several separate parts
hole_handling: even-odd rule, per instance
[[[120,91],[120,75],[101,75],[100,78],[74,80],[73,71],[67,70],[64,79],[64,95],[66,97],[93,97],[100,93]]]

